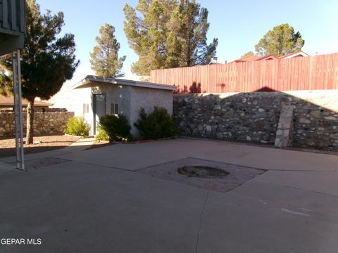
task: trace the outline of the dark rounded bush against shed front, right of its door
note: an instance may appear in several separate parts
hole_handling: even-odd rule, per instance
[[[104,115],[99,119],[99,126],[109,141],[128,141],[131,138],[130,125],[123,115]]]

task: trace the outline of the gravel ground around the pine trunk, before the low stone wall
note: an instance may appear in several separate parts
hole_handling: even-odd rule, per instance
[[[58,148],[65,148],[80,139],[78,136],[38,136],[37,144],[23,145],[25,154],[39,153]],[[25,141],[25,138],[24,138]],[[15,155],[15,138],[0,138],[0,157]]]

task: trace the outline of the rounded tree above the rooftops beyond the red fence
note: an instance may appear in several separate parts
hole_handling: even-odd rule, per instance
[[[255,49],[258,56],[266,56],[272,53],[275,56],[285,56],[288,53],[300,51],[304,46],[304,40],[300,32],[294,32],[294,27],[282,24],[273,27],[256,44]]]

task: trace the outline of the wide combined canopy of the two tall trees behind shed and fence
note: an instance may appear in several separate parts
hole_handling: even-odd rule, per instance
[[[208,10],[193,0],[139,0],[125,5],[125,34],[139,56],[132,72],[211,62],[218,40],[207,44]]]

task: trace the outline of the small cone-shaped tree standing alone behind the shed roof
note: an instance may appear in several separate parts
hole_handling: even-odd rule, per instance
[[[100,37],[95,38],[97,46],[90,53],[92,70],[101,77],[123,77],[125,56],[118,58],[120,43],[115,39],[115,27],[105,24],[99,32]]]

